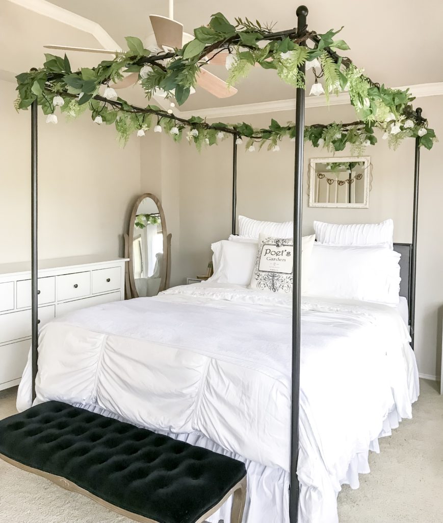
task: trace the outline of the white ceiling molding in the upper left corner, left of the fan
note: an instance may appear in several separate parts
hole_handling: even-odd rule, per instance
[[[88,32],[103,46],[103,49],[122,50],[118,43],[100,24],[97,24],[97,22],[89,18],[72,13],[63,7],[58,7],[57,5],[51,4],[51,2],[46,2],[46,0],[9,0],[9,2],[25,7],[25,9],[29,9],[39,15],[62,22],[62,24],[74,27],[75,29]]]

